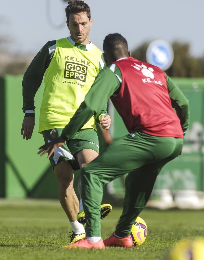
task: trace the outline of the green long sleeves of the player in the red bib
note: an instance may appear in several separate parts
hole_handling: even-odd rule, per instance
[[[100,109],[100,103],[108,100],[110,96],[117,95],[120,91],[122,75],[118,66],[114,71],[110,69],[111,65],[101,70],[95,79],[91,89],[87,93],[84,102],[81,103],[75,115],[69,124],[64,128],[62,135],[70,139],[75,135],[92,115],[96,115]],[[176,110],[180,119],[183,133],[185,134],[189,125],[189,103],[181,90],[175,83],[167,77],[167,87],[172,102],[172,107]],[[100,86],[100,88],[99,88]]]

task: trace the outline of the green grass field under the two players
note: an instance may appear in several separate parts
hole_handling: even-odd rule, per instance
[[[101,221],[102,238],[108,237],[121,208]],[[133,248],[103,250],[63,249],[71,226],[56,200],[0,200],[0,259],[166,259],[180,239],[204,234],[204,211],[158,211],[145,209],[146,242]]]

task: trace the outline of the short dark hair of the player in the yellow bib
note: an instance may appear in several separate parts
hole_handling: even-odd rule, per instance
[[[91,19],[90,7],[84,1],[73,0],[73,1],[69,1],[67,4],[68,5],[65,8],[67,21],[69,21],[70,14],[78,14],[82,12],[85,12],[87,14],[89,20]]]

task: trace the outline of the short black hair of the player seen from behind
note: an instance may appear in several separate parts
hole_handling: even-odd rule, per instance
[[[122,49],[123,51],[128,51],[128,45],[126,39],[118,33],[108,34],[103,41],[103,49],[110,49],[111,51],[116,51],[117,49]]]

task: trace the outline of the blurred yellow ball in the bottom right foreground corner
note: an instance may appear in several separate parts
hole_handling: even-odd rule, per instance
[[[204,239],[179,241],[170,251],[169,260],[204,260]]]

